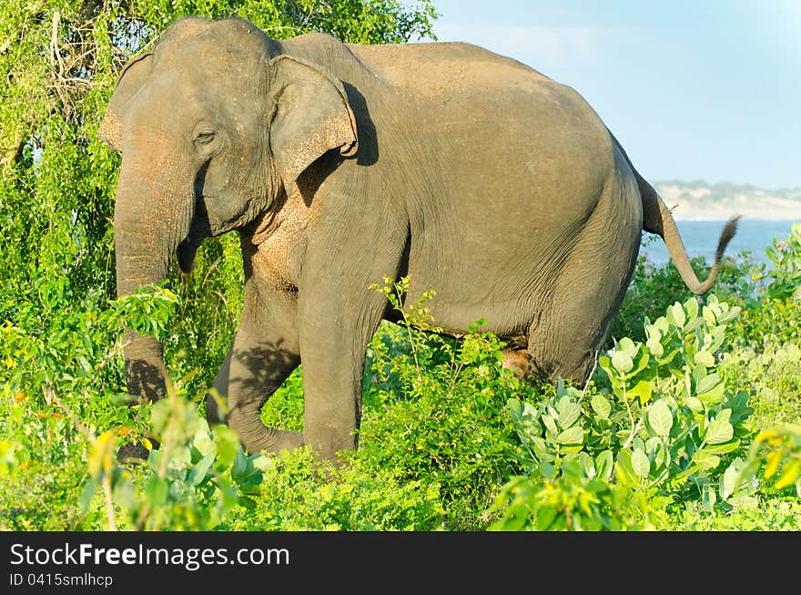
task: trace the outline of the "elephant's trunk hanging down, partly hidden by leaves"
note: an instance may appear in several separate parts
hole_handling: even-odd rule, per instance
[[[175,169],[166,165],[123,159],[114,209],[118,296],[164,279],[178,243],[187,237],[193,184],[177,189],[166,180],[167,172],[174,176]],[[140,402],[164,396],[167,375],[161,344],[133,331],[125,333],[124,341],[128,394]]]

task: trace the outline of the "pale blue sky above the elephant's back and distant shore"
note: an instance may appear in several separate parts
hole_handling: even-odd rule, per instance
[[[801,187],[801,0],[434,0],[439,41],[575,88],[649,180]]]

